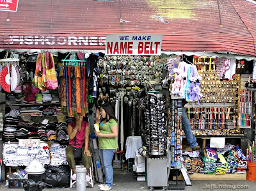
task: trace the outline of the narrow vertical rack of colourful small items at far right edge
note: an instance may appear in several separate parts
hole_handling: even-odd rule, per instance
[[[241,89],[239,107],[239,125],[241,128],[251,128],[252,91]]]

